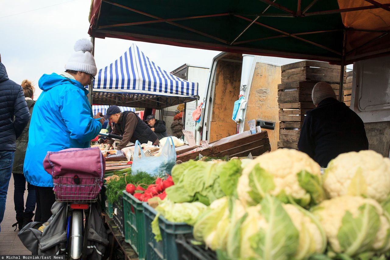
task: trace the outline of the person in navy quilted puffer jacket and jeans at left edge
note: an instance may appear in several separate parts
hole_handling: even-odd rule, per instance
[[[30,113],[20,85],[8,78],[0,56],[0,223],[3,221],[5,199],[18,138],[28,123]]]

